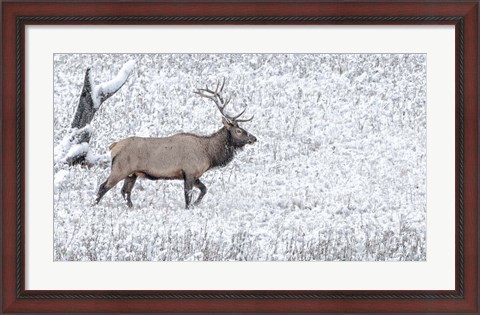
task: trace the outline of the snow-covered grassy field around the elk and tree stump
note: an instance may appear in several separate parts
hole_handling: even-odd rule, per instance
[[[101,83],[130,60],[92,121],[98,162],[54,162],[55,260],[426,260],[426,55],[57,54],[55,146],[87,67]],[[203,175],[199,206],[184,208],[182,181],[141,179],[132,209],[122,183],[92,206],[112,142],[217,131],[218,110],[193,91],[222,78],[258,142]]]

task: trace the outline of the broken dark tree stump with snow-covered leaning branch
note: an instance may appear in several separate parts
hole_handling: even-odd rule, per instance
[[[90,150],[89,142],[93,132],[90,122],[102,103],[125,84],[134,66],[134,60],[128,61],[112,80],[96,86],[90,75],[91,69],[87,69],[71,129],[55,148],[55,163],[68,163],[69,165],[92,163],[92,161],[87,161]]]

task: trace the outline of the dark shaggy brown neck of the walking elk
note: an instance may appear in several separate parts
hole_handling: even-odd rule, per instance
[[[207,154],[210,157],[210,168],[227,165],[235,156],[232,136],[227,128],[220,130],[207,137]]]

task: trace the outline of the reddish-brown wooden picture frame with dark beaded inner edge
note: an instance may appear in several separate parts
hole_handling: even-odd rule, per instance
[[[478,311],[478,0],[2,3],[3,312]],[[451,24],[456,29],[456,286],[453,291],[25,290],[24,27],[28,24]],[[27,192],[28,193],[28,192]]]

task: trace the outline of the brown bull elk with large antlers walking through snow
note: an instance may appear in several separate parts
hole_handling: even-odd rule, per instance
[[[131,193],[138,177],[150,180],[180,179],[184,182],[185,207],[191,203],[192,189],[200,190],[194,205],[200,203],[207,187],[200,177],[209,169],[227,165],[235,152],[257,138],[238,125],[253,119],[239,119],[245,109],[236,116],[225,113],[231,98],[221,95],[225,80],[218,82],[215,90],[206,86],[194,93],[212,100],[222,114],[223,127],[210,136],[179,133],[162,138],[130,137],[110,145],[112,166],[110,176],[98,189],[95,203],[98,204],[107,191],[123,180],[121,190],[128,207],[132,207]]]

